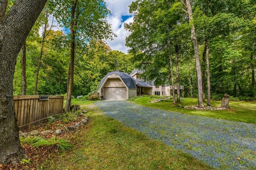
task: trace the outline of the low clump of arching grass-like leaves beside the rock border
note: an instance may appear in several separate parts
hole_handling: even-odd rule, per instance
[[[44,139],[42,137],[38,137],[38,141],[33,144],[34,147],[40,147],[40,146],[46,146],[46,147],[51,147],[51,149],[58,149],[61,152],[70,150],[73,145],[71,145],[68,141],[52,137],[51,139]]]

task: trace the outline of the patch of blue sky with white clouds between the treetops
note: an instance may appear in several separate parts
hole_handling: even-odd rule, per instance
[[[129,48],[125,47],[125,38],[130,35],[130,32],[124,29],[124,23],[133,21],[133,16],[129,13],[129,5],[133,1],[135,0],[105,0],[108,10],[111,11],[107,20],[117,35],[114,40],[107,40],[107,43],[112,50],[122,51],[126,54]]]

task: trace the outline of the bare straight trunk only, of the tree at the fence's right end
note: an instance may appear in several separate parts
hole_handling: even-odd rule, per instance
[[[75,58],[75,37],[76,37],[76,22],[74,21],[74,19],[75,19],[75,12],[76,12],[76,4],[77,4],[77,0],[74,0],[71,8],[71,22],[70,22],[71,44],[70,44],[69,84],[68,84],[67,102],[65,105],[65,111],[68,111],[70,109],[71,96],[73,92],[73,83],[74,83],[74,58]]]

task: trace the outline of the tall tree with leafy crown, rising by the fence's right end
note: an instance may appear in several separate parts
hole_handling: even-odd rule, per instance
[[[112,31],[106,21],[110,11],[104,0],[53,0],[56,6],[56,18],[69,29],[70,65],[68,73],[67,102],[65,110],[69,110],[74,84],[74,60],[76,43],[80,40],[88,42],[92,39],[111,38]]]

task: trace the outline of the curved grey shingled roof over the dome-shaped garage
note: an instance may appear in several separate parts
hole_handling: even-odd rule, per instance
[[[122,72],[119,70],[115,70],[115,71],[112,71],[112,72],[109,72],[108,74],[106,74],[106,76],[104,76],[104,78],[102,78],[102,80],[100,81],[100,86],[98,89],[100,89],[103,82],[106,80],[107,76],[109,76],[111,74],[116,74],[116,75],[120,76],[128,88],[137,89],[136,88],[136,80],[132,76],[127,74],[126,72]]]

